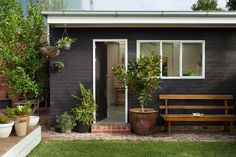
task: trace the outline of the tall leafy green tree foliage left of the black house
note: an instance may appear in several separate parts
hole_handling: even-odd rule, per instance
[[[46,27],[39,4],[29,0],[25,15],[15,0],[0,0],[0,8],[0,73],[7,77],[11,90],[39,97],[48,81],[47,61],[40,52]]]

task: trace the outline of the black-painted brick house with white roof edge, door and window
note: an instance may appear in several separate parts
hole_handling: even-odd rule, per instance
[[[93,90],[97,121],[128,122],[136,99],[114,80],[113,65],[154,50],[162,57],[159,93],[236,94],[236,13],[45,11],[50,36],[66,30],[77,41],[51,59],[65,69],[50,74],[51,121],[74,106],[79,82]],[[158,102],[158,95],[155,98]],[[151,104],[158,108],[158,105]]]

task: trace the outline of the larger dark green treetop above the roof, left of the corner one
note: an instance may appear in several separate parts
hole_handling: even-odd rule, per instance
[[[213,11],[221,10],[218,8],[217,0],[198,0],[192,5],[194,11]]]

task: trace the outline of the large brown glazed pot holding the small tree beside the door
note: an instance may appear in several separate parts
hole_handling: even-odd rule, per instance
[[[133,108],[130,112],[130,125],[132,132],[138,135],[150,135],[154,132],[157,122],[157,110],[152,108]]]

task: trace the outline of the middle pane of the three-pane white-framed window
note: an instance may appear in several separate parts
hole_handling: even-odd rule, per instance
[[[179,42],[163,42],[162,44],[162,76],[179,76]]]

